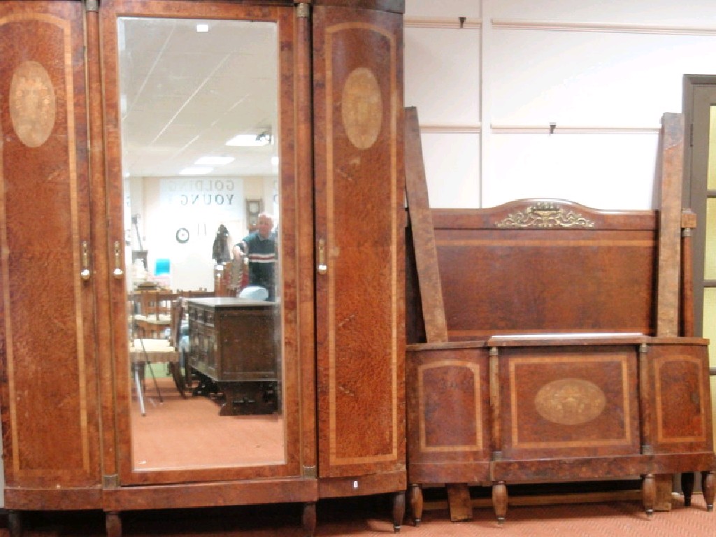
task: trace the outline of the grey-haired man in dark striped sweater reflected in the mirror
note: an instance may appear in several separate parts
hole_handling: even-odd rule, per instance
[[[236,245],[248,261],[248,285],[266,289],[269,292],[266,300],[269,301],[276,300],[276,234],[273,230],[274,218],[261,213],[256,221],[256,231]]]

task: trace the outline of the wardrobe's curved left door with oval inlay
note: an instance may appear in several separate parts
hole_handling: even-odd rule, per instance
[[[6,480],[100,483],[82,4],[0,5]],[[12,495],[8,505],[12,507]],[[87,505],[89,507],[89,505]]]

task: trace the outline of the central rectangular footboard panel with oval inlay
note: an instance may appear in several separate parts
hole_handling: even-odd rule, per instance
[[[498,356],[503,459],[639,454],[636,347]]]

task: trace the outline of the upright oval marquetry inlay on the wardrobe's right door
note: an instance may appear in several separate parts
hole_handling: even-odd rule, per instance
[[[375,75],[358,67],[348,75],[342,95],[343,126],[351,143],[367,149],[375,143],[383,121],[383,100]]]

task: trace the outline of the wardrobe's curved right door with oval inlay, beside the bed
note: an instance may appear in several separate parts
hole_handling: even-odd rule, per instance
[[[401,57],[400,14],[315,6],[319,477],[405,469]]]

